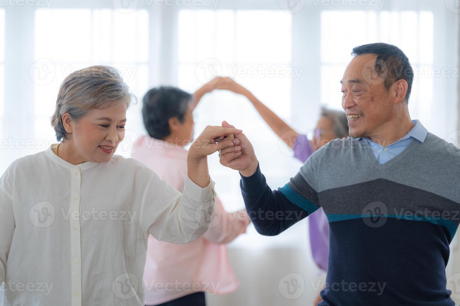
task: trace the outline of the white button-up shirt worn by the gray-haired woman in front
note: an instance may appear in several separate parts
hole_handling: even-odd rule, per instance
[[[185,244],[216,193],[187,175],[181,194],[131,158],[70,164],[47,150],[0,178],[0,305],[144,305],[147,239]]]

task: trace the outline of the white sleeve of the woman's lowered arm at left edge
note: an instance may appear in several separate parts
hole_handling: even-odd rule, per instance
[[[9,170],[9,169],[8,169]],[[0,178],[0,286],[5,281],[6,260],[15,228],[13,198],[8,170]]]

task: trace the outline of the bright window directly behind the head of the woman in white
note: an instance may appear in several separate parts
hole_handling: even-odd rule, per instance
[[[62,25],[56,27],[56,24]],[[59,85],[69,73],[91,65],[120,70],[141,97],[148,84],[148,13],[111,9],[40,9],[35,12],[35,138],[56,142],[50,124]],[[88,48],[89,46],[89,48]],[[116,154],[128,156],[142,130],[138,103],[127,111],[125,140]]]

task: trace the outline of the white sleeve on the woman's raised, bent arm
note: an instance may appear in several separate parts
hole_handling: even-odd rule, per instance
[[[207,231],[213,214],[216,198],[213,180],[201,188],[186,174],[181,194],[155,172],[151,173],[139,216],[144,234],[177,244],[198,239]]]

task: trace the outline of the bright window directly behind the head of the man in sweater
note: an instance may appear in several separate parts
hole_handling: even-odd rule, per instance
[[[341,24],[363,31],[344,35],[337,30]],[[431,11],[322,11],[321,102],[342,109],[339,81],[352,58],[351,50],[357,45],[381,41],[397,45],[411,61],[411,117],[420,119],[426,127],[434,124],[431,111],[426,111],[433,107],[433,75],[437,72],[433,67],[433,26]]]

